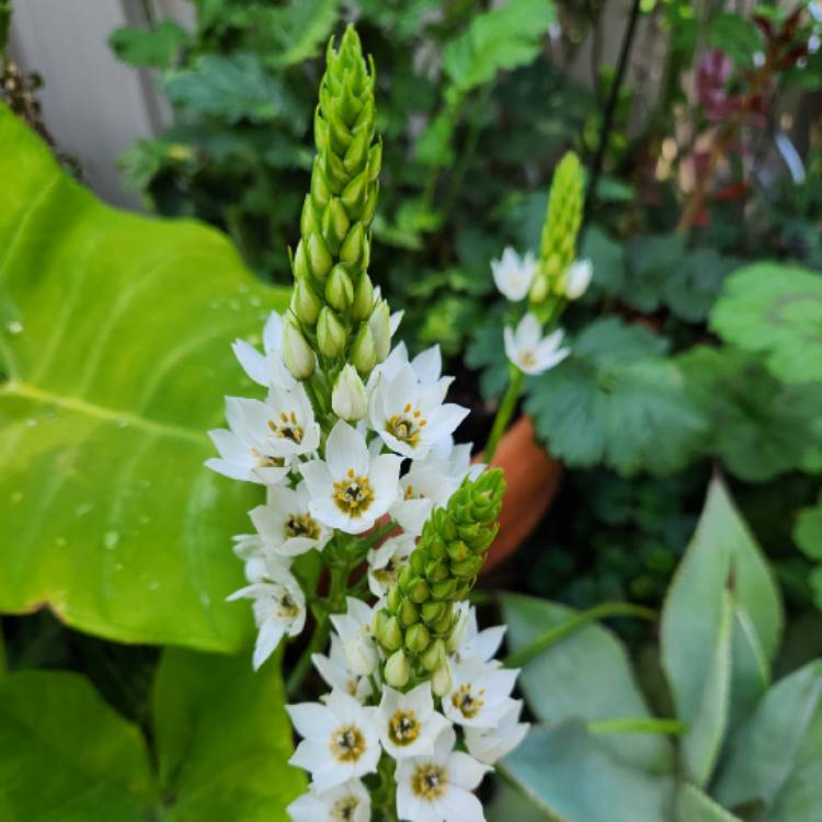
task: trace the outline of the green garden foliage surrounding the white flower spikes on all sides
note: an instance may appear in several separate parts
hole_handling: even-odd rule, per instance
[[[369,271],[410,347],[450,357],[480,421],[463,438],[484,441],[505,387],[489,262],[538,250],[567,148],[590,172],[594,281],[564,318],[571,356],[523,403],[563,488],[498,576],[509,649],[548,632],[522,684],[545,727],[506,765],[527,799],[489,790],[489,817],[815,822],[819,124],[792,110],[802,173],[779,140],[791,95],[822,89],[818,25],[803,3],[643,2],[659,91],[604,64],[586,89],[569,66],[603,5],[198,0],[193,31],[114,32],[175,114],[125,179],[219,230],[102,205],[2,109],[0,612],[37,613],[3,618],[0,820],[285,819],[302,790],[278,660],[252,676],[203,653],[250,642],[222,600],[253,490],[202,463],[221,397],[250,387],[228,342],[287,304],[321,53],[354,19],[383,138]],[[604,600],[661,609],[659,647],[647,620],[574,610]]]

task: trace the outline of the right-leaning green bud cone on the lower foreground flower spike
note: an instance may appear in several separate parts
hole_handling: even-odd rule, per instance
[[[377,613],[374,635],[387,654],[386,682],[403,688],[431,677],[434,693],[452,687],[448,655],[458,612],[477,580],[498,530],[502,471],[466,478],[425,523],[397,583]]]

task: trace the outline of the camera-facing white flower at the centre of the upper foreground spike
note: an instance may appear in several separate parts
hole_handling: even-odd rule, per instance
[[[299,466],[308,486],[311,516],[330,528],[362,534],[399,494],[400,457],[372,457],[365,437],[338,422],[326,442],[326,459]]]

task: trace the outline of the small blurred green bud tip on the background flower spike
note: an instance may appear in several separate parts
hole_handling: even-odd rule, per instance
[[[582,165],[579,157],[569,151],[557,163],[551,181],[539,247],[539,269],[530,287],[533,304],[544,302],[551,293],[563,296],[563,274],[576,258],[582,207]]]

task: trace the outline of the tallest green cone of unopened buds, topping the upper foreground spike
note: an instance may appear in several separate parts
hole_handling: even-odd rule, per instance
[[[329,44],[327,60],[315,113],[311,189],[292,259],[295,286],[285,363],[297,379],[316,367],[308,352],[331,361],[328,370],[338,370],[334,362],[349,362],[367,376],[390,349],[388,305],[375,295],[367,273],[381,162],[374,71],[367,70],[352,27],[339,49]]]

